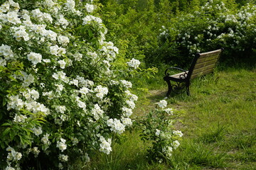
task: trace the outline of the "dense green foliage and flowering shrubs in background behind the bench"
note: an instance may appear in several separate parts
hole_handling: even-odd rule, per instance
[[[224,47],[224,61],[255,48],[255,1],[106,0],[107,38],[147,65],[189,64],[196,52]],[[247,4],[250,3],[250,4]]]

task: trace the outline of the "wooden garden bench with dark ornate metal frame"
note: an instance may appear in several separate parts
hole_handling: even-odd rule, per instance
[[[174,93],[183,93],[186,91],[186,94],[190,96],[189,85],[191,84],[191,79],[212,73],[223,50],[221,48],[210,52],[197,53],[196,57],[193,58],[191,67],[187,71],[178,67],[169,67],[166,69],[164,76],[164,81],[168,84],[166,96],[170,96],[172,91]],[[169,71],[171,69],[178,69],[181,72],[170,75]],[[175,81],[176,84],[171,84],[171,81]]]

